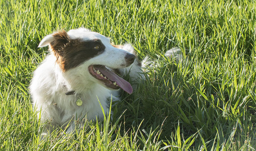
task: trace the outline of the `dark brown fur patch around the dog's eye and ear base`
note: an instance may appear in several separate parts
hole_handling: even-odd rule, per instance
[[[70,39],[64,30],[54,33],[53,37],[55,40],[50,43],[50,51],[56,57],[56,63],[60,65],[63,72],[82,64],[105,50],[105,46],[99,39],[90,41]],[[99,49],[95,49],[95,46],[99,46]]]

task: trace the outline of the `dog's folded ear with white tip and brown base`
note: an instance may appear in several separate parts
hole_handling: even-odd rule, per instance
[[[63,48],[69,41],[70,40],[67,32],[62,30],[45,36],[39,43],[38,47],[45,47],[49,45],[51,50],[60,51],[60,49]]]

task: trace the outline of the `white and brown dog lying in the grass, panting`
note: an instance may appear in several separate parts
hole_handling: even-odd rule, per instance
[[[133,91],[120,76],[129,74],[133,81],[144,78],[130,44],[113,45],[89,29],[57,31],[38,45],[45,46],[50,54],[35,69],[30,83],[33,109],[45,123],[43,135],[55,128],[72,132],[75,121],[84,117],[102,120],[102,108],[107,115],[109,100],[119,99],[118,89]]]

